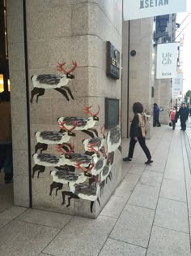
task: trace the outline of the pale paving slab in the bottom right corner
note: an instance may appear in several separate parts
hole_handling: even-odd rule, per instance
[[[146,256],[190,256],[189,234],[153,227]]]

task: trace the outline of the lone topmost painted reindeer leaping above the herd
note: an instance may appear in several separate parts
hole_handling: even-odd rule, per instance
[[[36,102],[38,102],[38,98],[45,94],[45,89],[55,89],[57,92],[62,93],[67,101],[70,100],[67,93],[69,93],[70,97],[74,99],[70,88],[66,86],[69,80],[74,79],[74,75],[70,73],[77,67],[77,63],[76,61],[72,61],[72,63],[74,67],[72,67],[68,72],[64,69],[64,65],[66,63],[58,63],[57,70],[64,72],[62,76],[50,74],[32,76],[31,80],[34,89],[32,89],[31,103],[35,95],[37,95]]]

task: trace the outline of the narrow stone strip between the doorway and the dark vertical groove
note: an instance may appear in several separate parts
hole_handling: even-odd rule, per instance
[[[23,40],[23,1],[7,1],[11,122],[14,165],[14,202],[29,206],[28,122]]]

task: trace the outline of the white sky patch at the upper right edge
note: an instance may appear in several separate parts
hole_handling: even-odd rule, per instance
[[[183,82],[183,93],[185,94],[189,89],[191,90],[191,0],[188,0],[189,7],[187,11],[177,14],[176,23],[181,24],[185,18],[187,19],[180,25],[180,28],[176,31],[176,36],[183,30],[180,37],[185,36],[184,52],[183,52],[183,72],[184,72],[184,82]],[[176,41],[179,41],[179,37]]]

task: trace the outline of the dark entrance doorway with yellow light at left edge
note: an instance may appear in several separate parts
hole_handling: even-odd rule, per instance
[[[7,46],[6,0],[0,0],[0,46],[0,212],[2,212],[13,205],[12,179],[6,179],[7,176],[10,176],[8,172],[12,171],[11,104],[10,98],[6,97],[11,90]],[[9,156],[8,158],[7,155]]]

